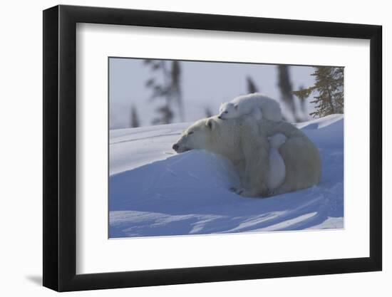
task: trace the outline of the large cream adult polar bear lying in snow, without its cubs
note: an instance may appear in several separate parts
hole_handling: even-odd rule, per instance
[[[304,132],[284,121],[255,120],[250,115],[221,120],[215,115],[190,125],[172,148],[179,153],[203,149],[227,157],[241,182],[234,185],[234,192],[244,197],[268,197],[267,137],[277,133],[287,137],[279,150],[286,167],[286,177],[283,184],[274,189],[274,194],[318,184],[321,178],[319,150]]]

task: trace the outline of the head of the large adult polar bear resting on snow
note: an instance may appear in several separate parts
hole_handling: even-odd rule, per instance
[[[172,146],[176,152],[186,152],[188,150],[210,150],[213,151],[215,142],[215,130],[218,129],[217,117],[198,120],[188,127],[179,140]]]

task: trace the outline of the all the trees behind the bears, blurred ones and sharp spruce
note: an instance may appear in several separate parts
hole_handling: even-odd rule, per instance
[[[150,68],[152,73],[151,77],[145,81],[145,87],[150,89],[148,100],[161,103],[155,110],[156,117],[153,118],[152,124],[172,123],[175,115],[181,121],[185,121],[180,61],[145,59],[143,63]],[[286,112],[291,113],[291,118],[295,122],[309,120],[309,115],[312,118],[321,118],[334,113],[344,113],[344,68],[314,66],[314,73],[311,74],[315,78],[314,85],[307,88],[302,85],[299,90],[293,90],[289,69],[290,66],[287,65],[277,66],[277,87],[281,94],[282,104],[287,107]],[[245,79],[248,93],[260,92],[252,77],[248,75]],[[310,114],[307,111],[309,97],[313,99],[310,103],[316,104],[314,112]],[[295,98],[299,104],[296,104]],[[206,117],[214,114],[211,108],[205,107]],[[131,105],[130,127],[139,126],[138,110],[135,105]]]

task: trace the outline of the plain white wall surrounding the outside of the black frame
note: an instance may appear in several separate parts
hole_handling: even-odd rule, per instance
[[[384,184],[391,179],[392,120],[386,120],[391,95],[392,19],[388,1],[61,1],[62,4],[133,9],[189,11],[209,14],[264,16],[282,19],[338,21],[383,25]],[[41,287],[42,218],[42,10],[57,1],[4,1],[1,5],[1,247],[0,292],[3,296],[52,296]],[[388,68],[387,68],[388,67]],[[387,73],[388,71],[388,73]],[[387,165],[390,165],[386,169]],[[392,258],[391,189],[384,190],[383,272],[277,278],[182,286],[128,288],[71,293],[68,296],[390,296]],[[84,296],[83,295],[83,296]]]

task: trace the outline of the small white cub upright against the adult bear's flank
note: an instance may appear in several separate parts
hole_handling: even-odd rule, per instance
[[[269,174],[267,178],[267,187],[269,192],[273,192],[284,182],[286,177],[286,166],[284,165],[284,160],[279,153],[279,147],[286,142],[287,137],[282,133],[277,133],[271,137],[269,140]]]

